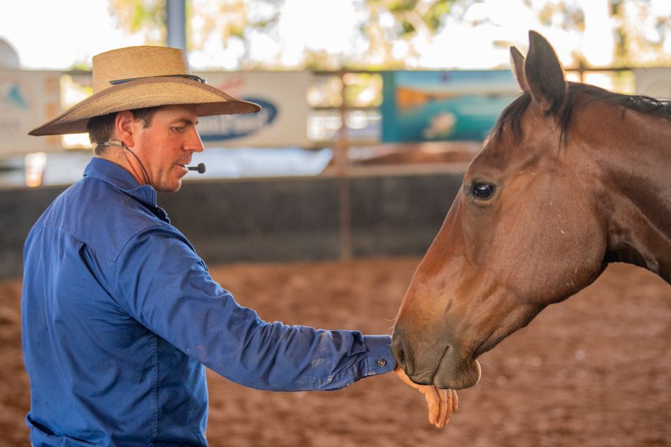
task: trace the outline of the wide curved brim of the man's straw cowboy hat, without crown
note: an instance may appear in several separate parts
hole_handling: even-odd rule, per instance
[[[85,133],[86,125],[93,117],[160,105],[195,105],[199,117],[261,110],[256,103],[233,98],[211,85],[194,80],[172,76],[141,78],[99,91],[28,134]]]

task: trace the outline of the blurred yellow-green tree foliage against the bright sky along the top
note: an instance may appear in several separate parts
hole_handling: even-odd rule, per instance
[[[446,17],[462,14],[481,1],[352,0],[358,12],[357,28],[366,49],[359,53],[352,50],[335,54],[306,45],[302,60],[291,68],[417,66],[420,48],[433,42],[435,35],[445,27]],[[542,27],[559,27],[578,34],[585,31],[585,15],[577,1],[522,1],[528,8],[537,10]],[[616,66],[671,64],[671,16],[653,15],[650,8],[655,1],[671,0],[607,1],[616,41],[613,55]],[[277,29],[284,5],[284,0],[187,0],[187,47],[196,51],[235,47],[238,51],[232,52],[230,57],[236,59],[236,68],[282,68],[281,54],[255,60],[250,57],[250,48],[251,37],[258,34],[280,41]],[[165,0],[110,0],[110,12],[119,27],[131,33],[143,33],[147,43],[165,42]],[[321,19],[329,20],[329,17]],[[503,41],[499,44],[508,45]]]

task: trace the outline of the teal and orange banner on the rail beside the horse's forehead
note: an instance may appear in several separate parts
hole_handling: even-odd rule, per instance
[[[382,73],[382,141],[482,141],[521,93],[510,70]]]

